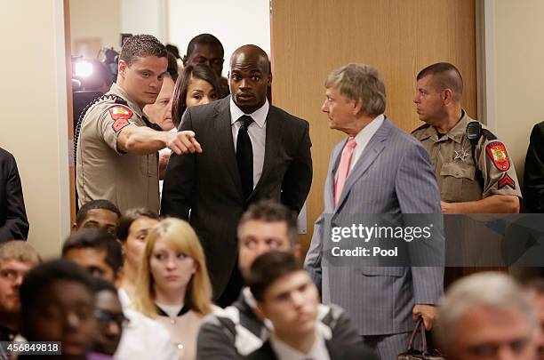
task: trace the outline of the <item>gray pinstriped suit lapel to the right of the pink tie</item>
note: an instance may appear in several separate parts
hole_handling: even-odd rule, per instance
[[[351,187],[353,187],[356,180],[358,180],[364,174],[364,172],[368,170],[370,165],[380,155],[380,152],[386,147],[386,140],[388,139],[388,133],[390,132],[392,126],[393,125],[386,117],[378,131],[372,136],[371,140],[364,148],[363,153],[361,156],[359,156],[357,164],[355,164],[353,170],[348,174],[348,178],[346,179],[346,183],[342,189],[342,194],[340,194],[340,199],[335,211],[338,210],[340,204],[342,204],[346,196],[348,196],[349,190]]]

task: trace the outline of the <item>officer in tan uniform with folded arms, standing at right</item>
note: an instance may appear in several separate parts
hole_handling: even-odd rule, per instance
[[[421,70],[417,80],[413,102],[426,124],[412,135],[430,154],[442,211],[519,212],[521,191],[514,164],[504,143],[461,108],[459,70],[437,63]]]

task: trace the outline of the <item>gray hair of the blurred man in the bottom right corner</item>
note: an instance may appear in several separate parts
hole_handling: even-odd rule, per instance
[[[511,277],[498,272],[477,273],[452,284],[440,301],[434,329],[439,348],[452,346],[453,329],[468,310],[477,306],[515,309],[533,328],[538,324],[531,302]]]

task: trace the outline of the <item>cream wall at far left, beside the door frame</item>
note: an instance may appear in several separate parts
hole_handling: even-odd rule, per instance
[[[62,0],[2,2],[0,147],[16,158],[29,242],[59,255],[69,232],[68,108]]]

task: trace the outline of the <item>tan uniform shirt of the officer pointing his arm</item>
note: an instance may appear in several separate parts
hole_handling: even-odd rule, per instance
[[[101,100],[84,116],[76,154],[76,187],[79,206],[107,199],[121,212],[147,207],[158,212],[158,153],[125,154],[117,149],[117,136],[126,126],[146,126],[138,105],[113,84],[109,90],[127,101]]]

